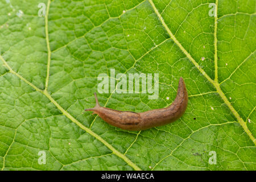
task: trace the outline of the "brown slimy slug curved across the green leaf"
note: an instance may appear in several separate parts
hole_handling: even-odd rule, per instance
[[[98,114],[105,122],[124,130],[146,130],[151,127],[162,126],[174,122],[183,115],[188,105],[188,93],[185,82],[182,77],[179,80],[177,95],[168,107],[162,109],[148,110],[143,113],[132,111],[119,111],[101,107],[98,103],[96,93],[94,93],[96,106],[85,111],[93,111],[92,114]]]

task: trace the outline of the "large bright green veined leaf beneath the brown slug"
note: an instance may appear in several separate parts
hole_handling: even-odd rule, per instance
[[[256,169],[255,1],[1,0],[0,9],[2,170]],[[83,113],[112,68],[159,73],[159,98],[98,94],[101,105],[166,107],[183,77],[186,112],[139,132]]]

